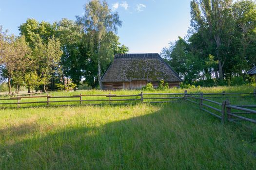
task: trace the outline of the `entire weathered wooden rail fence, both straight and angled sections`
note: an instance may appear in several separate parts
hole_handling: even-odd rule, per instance
[[[246,95],[246,96],[244,96]],[[94,97],[90,99],[90,97]],[[104,99],[104,97],[106,97]],[[197,104],[198,108],[221,119],[221,122],[232,121],[238,123],[240,120],[249,121],[256,123],[256,119],[247,118],[244,115],[256,114],[256,105],[232,105],[230,101],[223,100],[222,102],[217,102],[210,100],[210,98],[237,98],[237,97],[256,97],[256,91],[254,93],[197,93],[197,94],[188,94],[185,90],[184,93],[139,93],[134,95],[116,95],[116,94],[103,94],[103,95],[85,95],[79,94],[74,96],[18,96],[10,97],[5,99],[0,99],[0,106],[3,105],[16,105],[17,108],[20,108],[23,104],[43,104],[45,106],[51,106],[54,104],[51,103],[76,103],[76,105],[98,105],[98,104],[130,104],[132,102],[143,102],[143,103],[166,103],[166,102],[181,102],[188,101],[193,104]],[[22,102],[22,99],[30,98],[43,98],[44,101],[29,101]],[[68,99],[75,100],[68,100]],[[86,99],[84,99],[86,98]],[[96,99],[95,99],[96,98]],[[98,99],[99,98],[99,99]],[[55,100],[54,100],[55,99]],[[56,101],[57,99],[57,101]],[[58,100],[61,99],[61,100]],[[6,102],[7,101],[7,102]],[[8,101],[17,101],[17,102],[8,102]],[[101,102],[101,103],[96,103]],[[71,105],[71,104],[69,104]],[[234,119],[235,118],[235,119]]]

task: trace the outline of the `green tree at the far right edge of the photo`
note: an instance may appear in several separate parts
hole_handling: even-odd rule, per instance
[[[256,3],[252,0],[237,1],[233,5],[235,18],[235,36],[232,44],[234,58],[230,72],[243,72],[243,77],[248,69],[256,63]]]

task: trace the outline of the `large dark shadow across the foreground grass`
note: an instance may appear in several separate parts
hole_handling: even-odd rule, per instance
[[[256,167],[256,158],[248,153],[256,145],[248,139],[242,141],[238,129],[221,126],[216,119],[206,119],[209,115],[204,112],[183,104],[161,106],[157,112],[140,117],[99,126],[85,122],[12,144],[0,144],[0,169]],[[33,124],[24,127],[39,128]],[[19,132],[17,127],[10,127],[0,134],[7,131]]]

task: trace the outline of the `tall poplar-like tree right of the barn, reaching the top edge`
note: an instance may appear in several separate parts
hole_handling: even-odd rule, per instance
[[[233,35],[233,0],[192,0],[191,26],[202,36],[205,46],[212,49],[218,61],[219,79],[223,80],[223,66],[229,53]]]

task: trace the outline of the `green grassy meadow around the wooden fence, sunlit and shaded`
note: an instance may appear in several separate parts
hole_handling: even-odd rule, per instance
[[[253,87],[188,91],[222,90],[252,92]],[[79,93],[109,92],[50,95]],[[255,99],[232,102],[255,104]],[[5,169],[256,169],[256,132],[221,125],[185,102],[1,109],[0,170]]]

